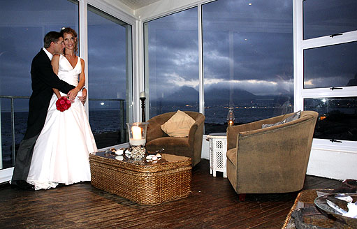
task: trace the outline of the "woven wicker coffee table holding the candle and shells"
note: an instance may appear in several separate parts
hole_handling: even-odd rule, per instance
[[[91,184],[97,189],[138,202],[156,205],[191,193],[191,158],[162,154],[159,161],[135,161],[96,152],[89,155]]]

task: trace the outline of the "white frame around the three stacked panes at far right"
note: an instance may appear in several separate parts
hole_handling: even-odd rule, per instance
[[[304,109],[305,98],[335,98],[355,97],[357,87],[342,87],[342,90],[331,90],[330,87],[304,89],[304,50],[314,47],[324,47],[357,41],[357,31],[348,31],[340,36],[322,36],[303,39],[303,1],[293,1],[293,36],[294,36],[294,110]],[[312,149],[333,150],[339,152],[356,152],[357,142],[342,140],[330,142],[328,139],[316,139],[312,142]]]

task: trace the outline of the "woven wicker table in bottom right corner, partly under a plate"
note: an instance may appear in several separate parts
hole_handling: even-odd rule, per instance
[[[301,191],[296,200],[294,202],[293,207],[286,216],[284,225],[282,229],[295,229],[296,222],[294,222],[291,214],[296,209],[303,209],[304,207],[311,207],[314,209],[314,200],[318,196],[317,193],[325,194],[325,193],[333,193],[333,189],[307,189]],[[322,214],[317,209],[306,214],[303,217],[303,223],[305,223],[304,228],[339,228],[339,229],[350,229],[351,227],[347,224],[337,221],[335,219],[329,219],[328,216]]]

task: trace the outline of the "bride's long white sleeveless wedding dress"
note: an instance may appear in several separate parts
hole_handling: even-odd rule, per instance
[[[78,85],[78,75],[82,71],[80,57],[75,68],[61,55],[58,77]],[[34,184],[35,190],[50,189],[57,184],[73,184],[90,181],[89,154],[97,151],[96,142],[89,126],[85,108],[78,96],[71,108],[60,112],[56,108],[57,96],[53,94],[45,126],[34,147],[27,182]],[[66,94],[61,93],[61,96]]]

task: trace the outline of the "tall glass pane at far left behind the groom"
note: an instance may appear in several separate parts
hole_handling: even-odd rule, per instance
[[[43,38],[49,31],[60,31],[64,26],[78,31],[78,2],[1,1],[0,18],[0,96],[14,96],[15,122],[13,147],[11,99],[2,97],[1,169],[13,167],[13,149],[17,152],[27,128],[32,59],[43,47]]]

